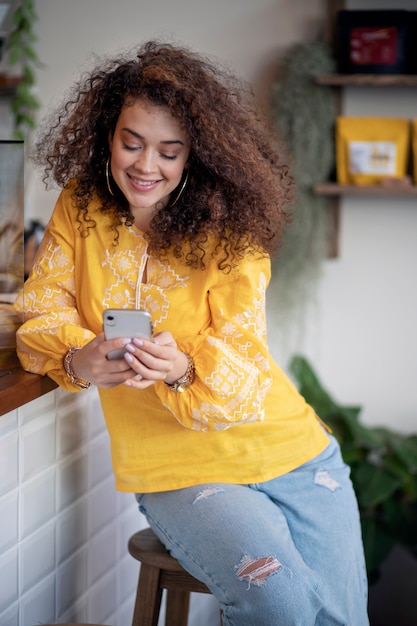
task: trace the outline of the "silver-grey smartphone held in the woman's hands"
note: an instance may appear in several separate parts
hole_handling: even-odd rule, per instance
[[[152,318],[148,311],[139,309],[106,309],[103,311],[103,331],[106,339],[121,337],[152,337]],[[120,348],[107,355],[108,359],[123,358],[126,350]]]

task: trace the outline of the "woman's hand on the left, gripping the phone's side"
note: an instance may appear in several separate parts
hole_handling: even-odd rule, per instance
[[[124,348],[131,340],[111,339],[106,341],[104,333],[100,333],[83,348],[76,350],[72,357],[72,370],[77,378],[81,378],[96,387],[111,388],[120,385],[136,376],[125,359],[108,359],[113,350]]]

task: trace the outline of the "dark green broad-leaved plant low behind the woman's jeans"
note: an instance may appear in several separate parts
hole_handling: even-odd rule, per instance
[[[290,363],[296,384],[338,439],[357,494],[368,579],[372,584],[395,544],[417,557],[417,434],[361,423],[361,408],[342,406],[306,358]]]

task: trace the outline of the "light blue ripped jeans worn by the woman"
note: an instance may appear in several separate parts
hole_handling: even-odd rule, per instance
[[[212,591],[223,626],[367,626],[356,498],[339,446],[279,478],[137,494],[150,526]]]

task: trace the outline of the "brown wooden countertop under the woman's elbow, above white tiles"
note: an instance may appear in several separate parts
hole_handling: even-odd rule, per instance
[[[0,371],[0,415],[57,388],[48,376],[29,374],[21,367]]]

